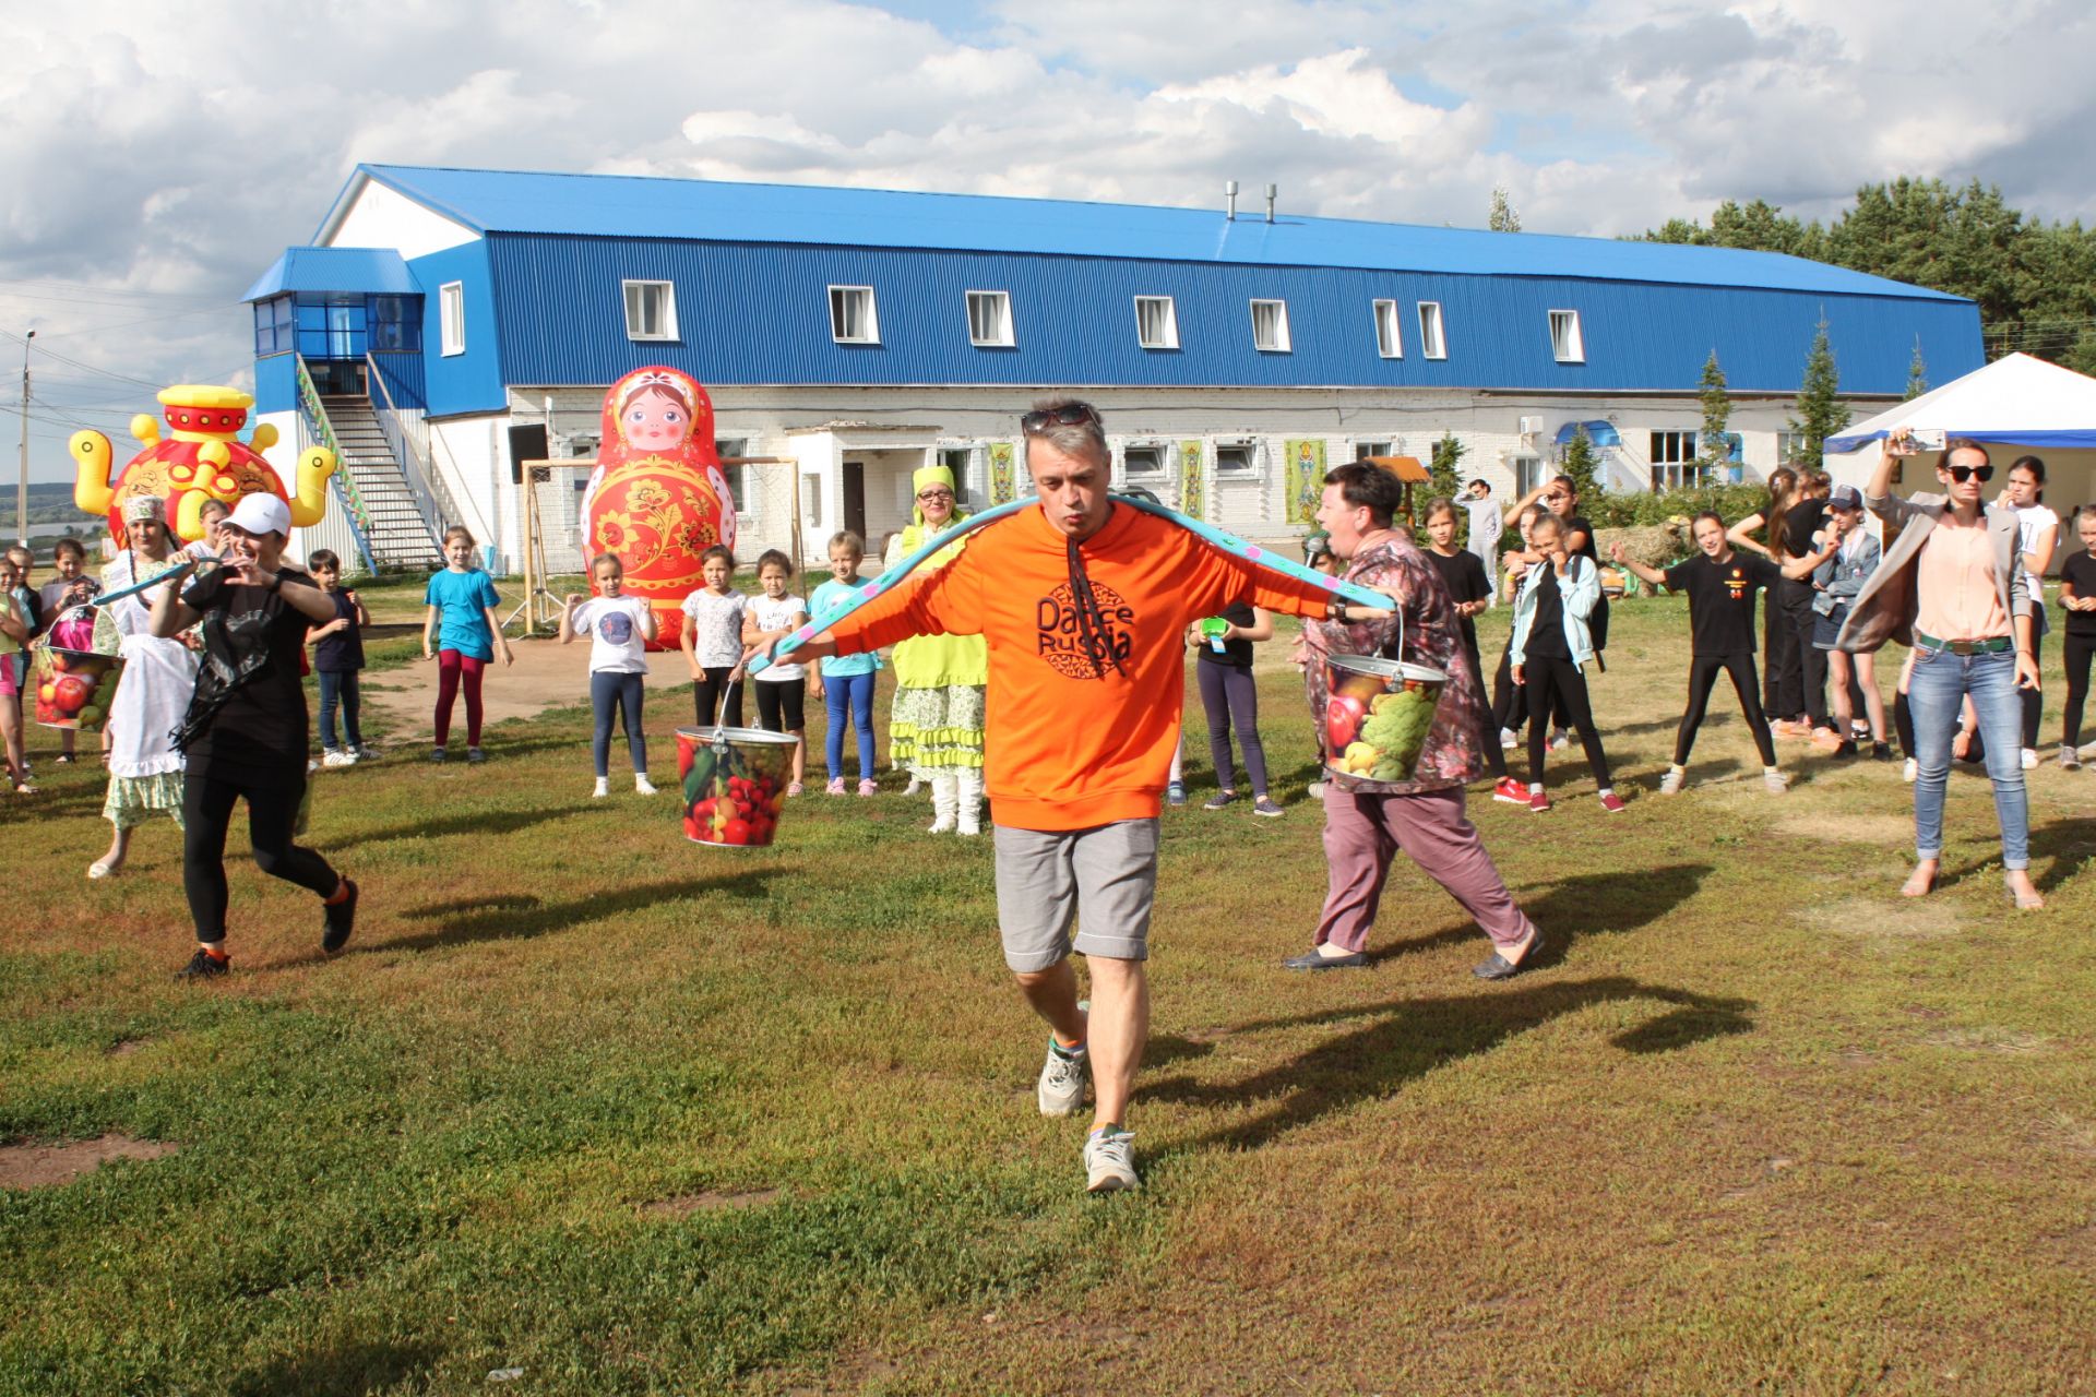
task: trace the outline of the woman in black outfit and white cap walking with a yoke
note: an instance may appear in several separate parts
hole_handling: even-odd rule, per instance
[[[176,978],[226,974],[226,827],[247,800],[256,867],[323,901],[323,951],[340,951],[356,917],[356,884],[291,842],[306,794],[306,689],[298,662],[306,628],[335,618],[335,603],[304,574],[279,568],[291,509],[249,494],[220,526],[224,563],[153,595],[153,635],[203,622],[197,693],[176,731],[182,775],[182,888],[197,924],[197,953]]]

